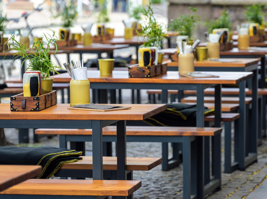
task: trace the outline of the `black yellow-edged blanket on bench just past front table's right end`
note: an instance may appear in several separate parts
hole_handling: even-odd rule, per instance
[[[167,109],[143,120],[151,126],[196,126],[196,104],[167,104]],[[214,109],[204,107],[204,116],[214,115]]]

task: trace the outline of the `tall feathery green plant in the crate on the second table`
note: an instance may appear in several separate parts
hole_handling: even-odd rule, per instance
[[[145,17],[146,22],[141,24],[141,31],[137,33],[139,36],[144,37],[143,46],[156,46],[161,48],[162,42],[166,37],[166,28],[163,23],[157,23],[151,7],[151,0],[147,5],[147,10],[143,7],[142,14]]]

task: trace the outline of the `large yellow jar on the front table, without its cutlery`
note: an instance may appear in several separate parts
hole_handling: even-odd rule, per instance
[[[70,106],[90,103],[90,82],[88,79],[70,80]]]

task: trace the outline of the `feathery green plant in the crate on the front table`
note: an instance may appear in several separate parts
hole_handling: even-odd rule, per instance
[[[36,41],[33,43],[31,49],[27,49],[27,44],[21,44],[18,40],[15,39],[15,34],[12,34],[9,39],[9,44],[12,50],[15,50],[14,59],[21,59],[22,64],[26,60],[29,60],[29,64],[27,66],[27,70],[39,70],[41,71],[41,79],[46,79],[50,76],[49,72],[52,72],[54,75],[57,72],[57,69],[62,69],[61,67],[57,67],[52,61],[49,59],[50,54],[56,54],[57,47],[57,36],[55,35],[55,31],[52,31],[52,34],[43,33],[43,39],[45,38],[47,41]],[[55,47],[51,49],[51,46]]]

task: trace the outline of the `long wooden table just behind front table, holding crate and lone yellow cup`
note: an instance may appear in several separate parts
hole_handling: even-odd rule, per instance
[[[206,72],[208,73],[208,72]],[[240,137],[239,145],[245,146],[245,81],[253,76],[252,72],[210,72],[215,75],[219,75],[219,78],[196,78],[190,79],[180,77],[178,72],[168,71],[165,75],[160,75],[152,78],[129,78],[128,71],[113,71],[112,76],[101,77],[99,71],[88,72],[88,79],[90,81],[90,88],[93,89],[162,89],[162,102],[167,102],[167,90],[197,90],[197,127],[204,127],[204,89],[208,87],[215,87],[215,127],[220,127],[221,116],[221,84],[239,84],[240,88]],[[70,77],[65,74],[55,75],[55,82],[70,82]],[[257,107],[257,81],[253,81],[253,108]],[[257,108],[256,108],[257,110]],[[255,116],[255,113],[254,115]],[[257,116],[253,118],[257,119]],[[257,128],[257,126],[256,126]],[[257,131],[257,129],[255,129]],[[257,160],[257,137],[253,136],[251,140],[251,154],[245,159],[245,149],[238,151],[239,153],[239,168],[245,169],[247,164],[250,164]],[[220,135],[215,136],[215,148],[221,145]],[[191,192],[195,192],[199,198],[203,198],[208,192],[221,186],[221,154],[215,154],[215,166],[214,168],[214,180],[211,180],[209,184],[204,184],[204,161],[203,161],[203,137],[197,138],[198,154],[197,154],[197,188],[194,190],[184,186],[183,194],[184,198],[189,198]],[[218,149],[218,148],[217,148]],[[220,150],[219,150],[220,151]],[[185,156],[185,155],[184,155]],[[184,161],[184,160],[183,160]],[[188,164],[190,165],[190,164]],[[183,181],[184,185],[187,182],[191,182],[190,168],[183,168]],[[206,169],[206,168],[205,168]],[[209,171],[205,170],[205,173],[209,175]],[[210,186],[209,186],[210,185]],[[204,188],[205,186],[205,188]]]

